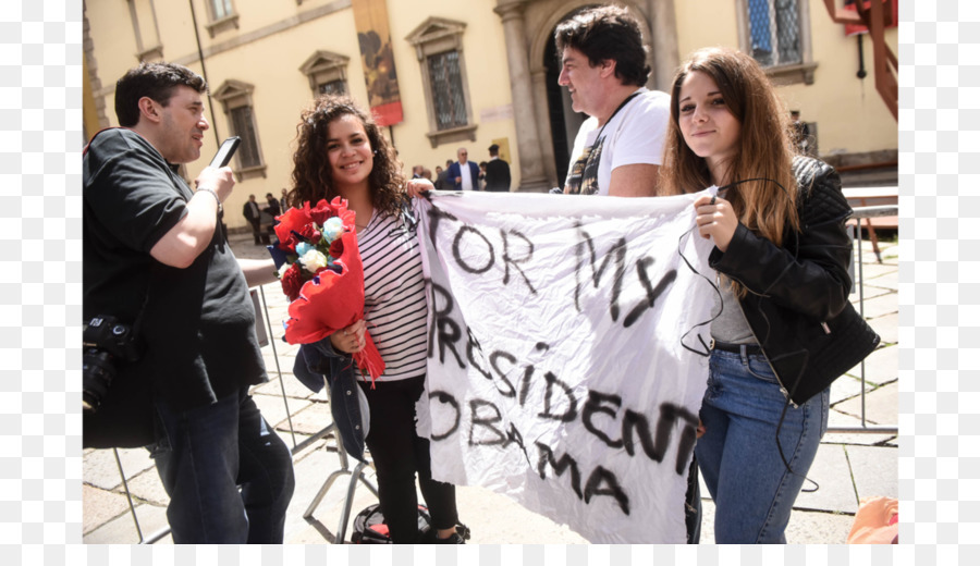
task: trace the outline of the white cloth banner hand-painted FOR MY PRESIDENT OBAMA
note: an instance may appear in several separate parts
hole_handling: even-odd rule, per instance
[[[436,479],[596,543],[686,541],[715,293],[698,196],[433,193],[418,428]]]

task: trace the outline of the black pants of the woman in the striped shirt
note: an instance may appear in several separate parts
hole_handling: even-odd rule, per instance
[[[425,377],[400,381],[359,382],[370,407],[368,450],[378,472],[381,514],[391,541],[412,544],[418,537],[418,496],[415,473],[432,516],[432,527],[449,529],[460,521],[456,488],[432,479],[429,441],[415,433],[415,402],[421,396]]]

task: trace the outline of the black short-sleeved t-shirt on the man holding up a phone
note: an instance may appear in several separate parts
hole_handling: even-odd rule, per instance
[[[177,410],[267,380],[248,286],[222,232],[186,269],[149,254],[193,195],[130,130],[100,133],[83,159],[83,315],[133,323],[143,311],[145,353],[119,379],[149,376]]]

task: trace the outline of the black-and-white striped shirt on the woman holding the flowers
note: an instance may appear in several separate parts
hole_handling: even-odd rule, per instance
[[[357,233],[364,261],[364,318],[384,360],[382,381],[426,373],[426,284],[415,231],[376,213]],[[360,379],[360,378],[359,378]]]

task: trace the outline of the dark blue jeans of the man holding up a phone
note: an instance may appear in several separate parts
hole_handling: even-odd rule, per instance
[[[181,413],[156,404],[158,440],[148,448],[170,495],[174,543],[282,543],[292,455],[247,392]]]

